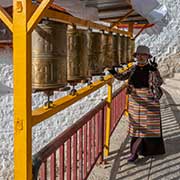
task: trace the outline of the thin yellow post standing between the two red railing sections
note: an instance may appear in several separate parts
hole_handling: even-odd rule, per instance
[[[104,155],[109,155],[109,139],[110,139],[110,128],[111,128],[111,102],[112,102],[112,82],[108,83],[108,97],[107,97],[107,114],[106,114],[106,139]]]

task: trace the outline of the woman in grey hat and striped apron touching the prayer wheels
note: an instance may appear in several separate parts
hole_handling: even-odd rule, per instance
[[[131,137],[129,162],[136,161],[138,154],[149,156],[165,153],[159,103],[163,81],[155,61],[148,61],[152,58],[148,47],[138,46],[134,57],[137,64],[129,71],[123,74],[109,71],[118,80],[128,79],[128,132]]]

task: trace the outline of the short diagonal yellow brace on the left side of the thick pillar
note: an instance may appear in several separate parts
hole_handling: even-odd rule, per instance
[[[13,23],[11,16],[6,12],[4,8],[0,6],[0,19],[4,22],[4,24],[13,31]]]

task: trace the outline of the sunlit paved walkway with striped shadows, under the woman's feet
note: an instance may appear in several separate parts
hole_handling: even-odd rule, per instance
[[[123,117],[111,137],[107,163],[96,166],[88,180],[180,180],[180,96],[170,86],[163,88],[161,115],[166,154],[141,157],[136,164],[127,163],[128,123]]]

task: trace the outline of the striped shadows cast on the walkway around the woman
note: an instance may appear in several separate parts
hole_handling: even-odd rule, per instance
[[[166,154],[146,157],[136,164],[128,164],[129,137],[119,150],[111,152],[107,161],[114,159],[109,180],[179,179],[180,177],[180,111],[171,95],[164,90],[161,115]]]

